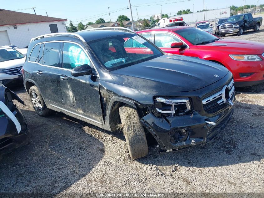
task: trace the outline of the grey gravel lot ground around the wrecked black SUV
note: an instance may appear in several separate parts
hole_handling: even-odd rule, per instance
[[[258,33],[231,38],[264,41]],[[131,160],[125,138],[62,114],[33,110],[15,90],[30,144],[0,163],[0,192],[264,192],[264,84],[236,89],[233,118],[211,143]]]

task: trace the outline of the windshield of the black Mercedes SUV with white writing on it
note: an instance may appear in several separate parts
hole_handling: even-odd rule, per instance
[[[163,54],[137,34],[125,34],[88,43],[100,62],[110,71],[142,63]]]

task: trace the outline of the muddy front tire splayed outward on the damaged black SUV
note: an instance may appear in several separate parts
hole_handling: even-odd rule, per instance
[[[122,106],[119,108],[119,115],[130,157],[137,159],[146,156],[148,154],[147,139],[137,110]]]

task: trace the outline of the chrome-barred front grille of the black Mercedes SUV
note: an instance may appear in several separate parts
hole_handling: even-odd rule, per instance
[[[218,87],[217,89],[212,90],[211,92],[203,95],[202,105],[205,112],[213,114],[220,109],[223,109],[227,106],[225,99],[225,88],[229,87],[230,90],[230,99],[232,100],[235,95],[234,80],[230,79],[226,84]],[[224,98],[224,99],[223,99]]]

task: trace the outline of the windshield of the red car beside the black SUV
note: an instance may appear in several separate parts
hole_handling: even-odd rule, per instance
[[[184,28],[184,29],[176,30],[175,32],[181,35],[183,38],[187,39],[193,45],[211,42],[219,39],[216,36],[206,31],[203,31],[199,28]]]

